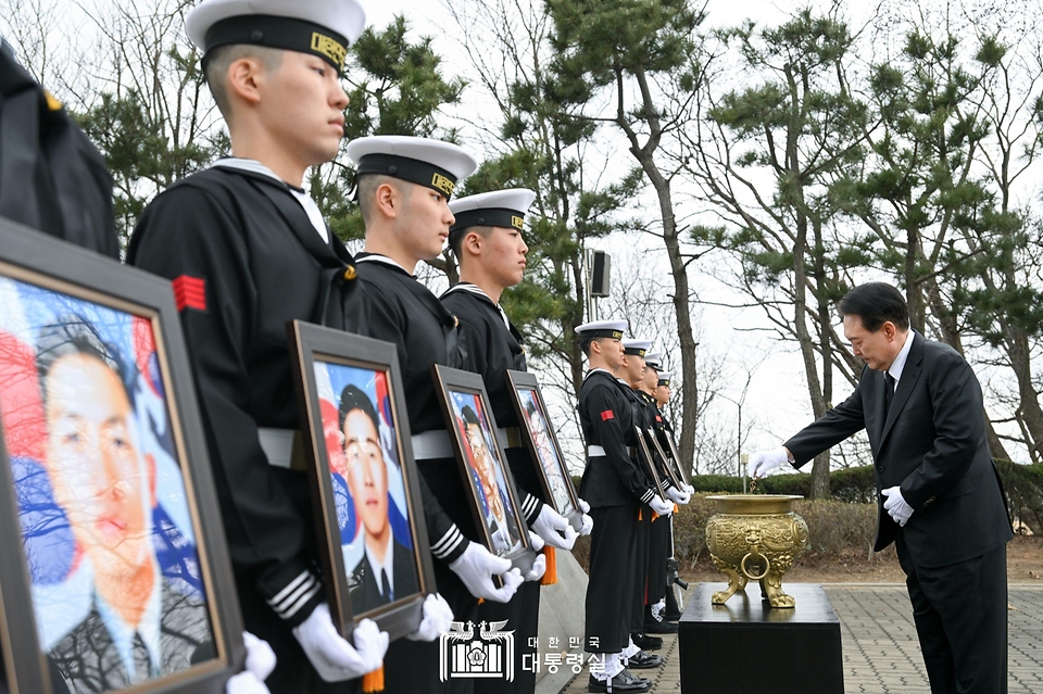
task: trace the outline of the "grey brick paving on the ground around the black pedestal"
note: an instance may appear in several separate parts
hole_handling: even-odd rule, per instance
[[[832,583],[825,588],[841,623],[845,694],[930,692],[904,584]],[[1043,585],[1011,585],[1009,591],[1008,694],[1041,694]],[[655,694],[680,692],[677,636],[665,636],[663,649],[657,653],[665,660],[663,667],[636,673],[652,680],[651,691]],[[585,671],[562,694],[586,691]]]

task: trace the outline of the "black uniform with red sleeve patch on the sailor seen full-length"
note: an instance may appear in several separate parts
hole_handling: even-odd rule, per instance
[[[632,402],[630,387],[605,369],[592,369],[583,378],[579,422],[588,462],[579,495],[590,504],[594,521],[587,586],[588,653],[619,653],[630,643],[638,512],[654,494],[631,457],[637,444]],[[604,454],[590,455],[590,446],[601,446]]]

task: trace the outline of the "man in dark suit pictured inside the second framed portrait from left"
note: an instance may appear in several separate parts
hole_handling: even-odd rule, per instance
[[[339,419],[348,491],[363,529],[364,553],[350,570],[351,609],[359,615],[416,593],[419,582],[413,551],[391,529],[377,412],[359,387],[349,384],[341,391]]]

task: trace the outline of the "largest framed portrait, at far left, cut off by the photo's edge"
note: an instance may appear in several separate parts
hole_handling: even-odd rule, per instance
[[[17,691],[223,692],[242,624],[169,281],[0,220],[0,306],[7,676],[29,629],[51,690]]]

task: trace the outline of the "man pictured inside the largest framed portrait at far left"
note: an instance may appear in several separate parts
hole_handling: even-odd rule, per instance
[[[142,453],[120,351],[79,316],[37,340],[45,467],[90,571],[87,617],[48,652],[70,691],[110,692],[185,670],[212,646],[205,601],[175,589],[153,545],[155,466]]]

